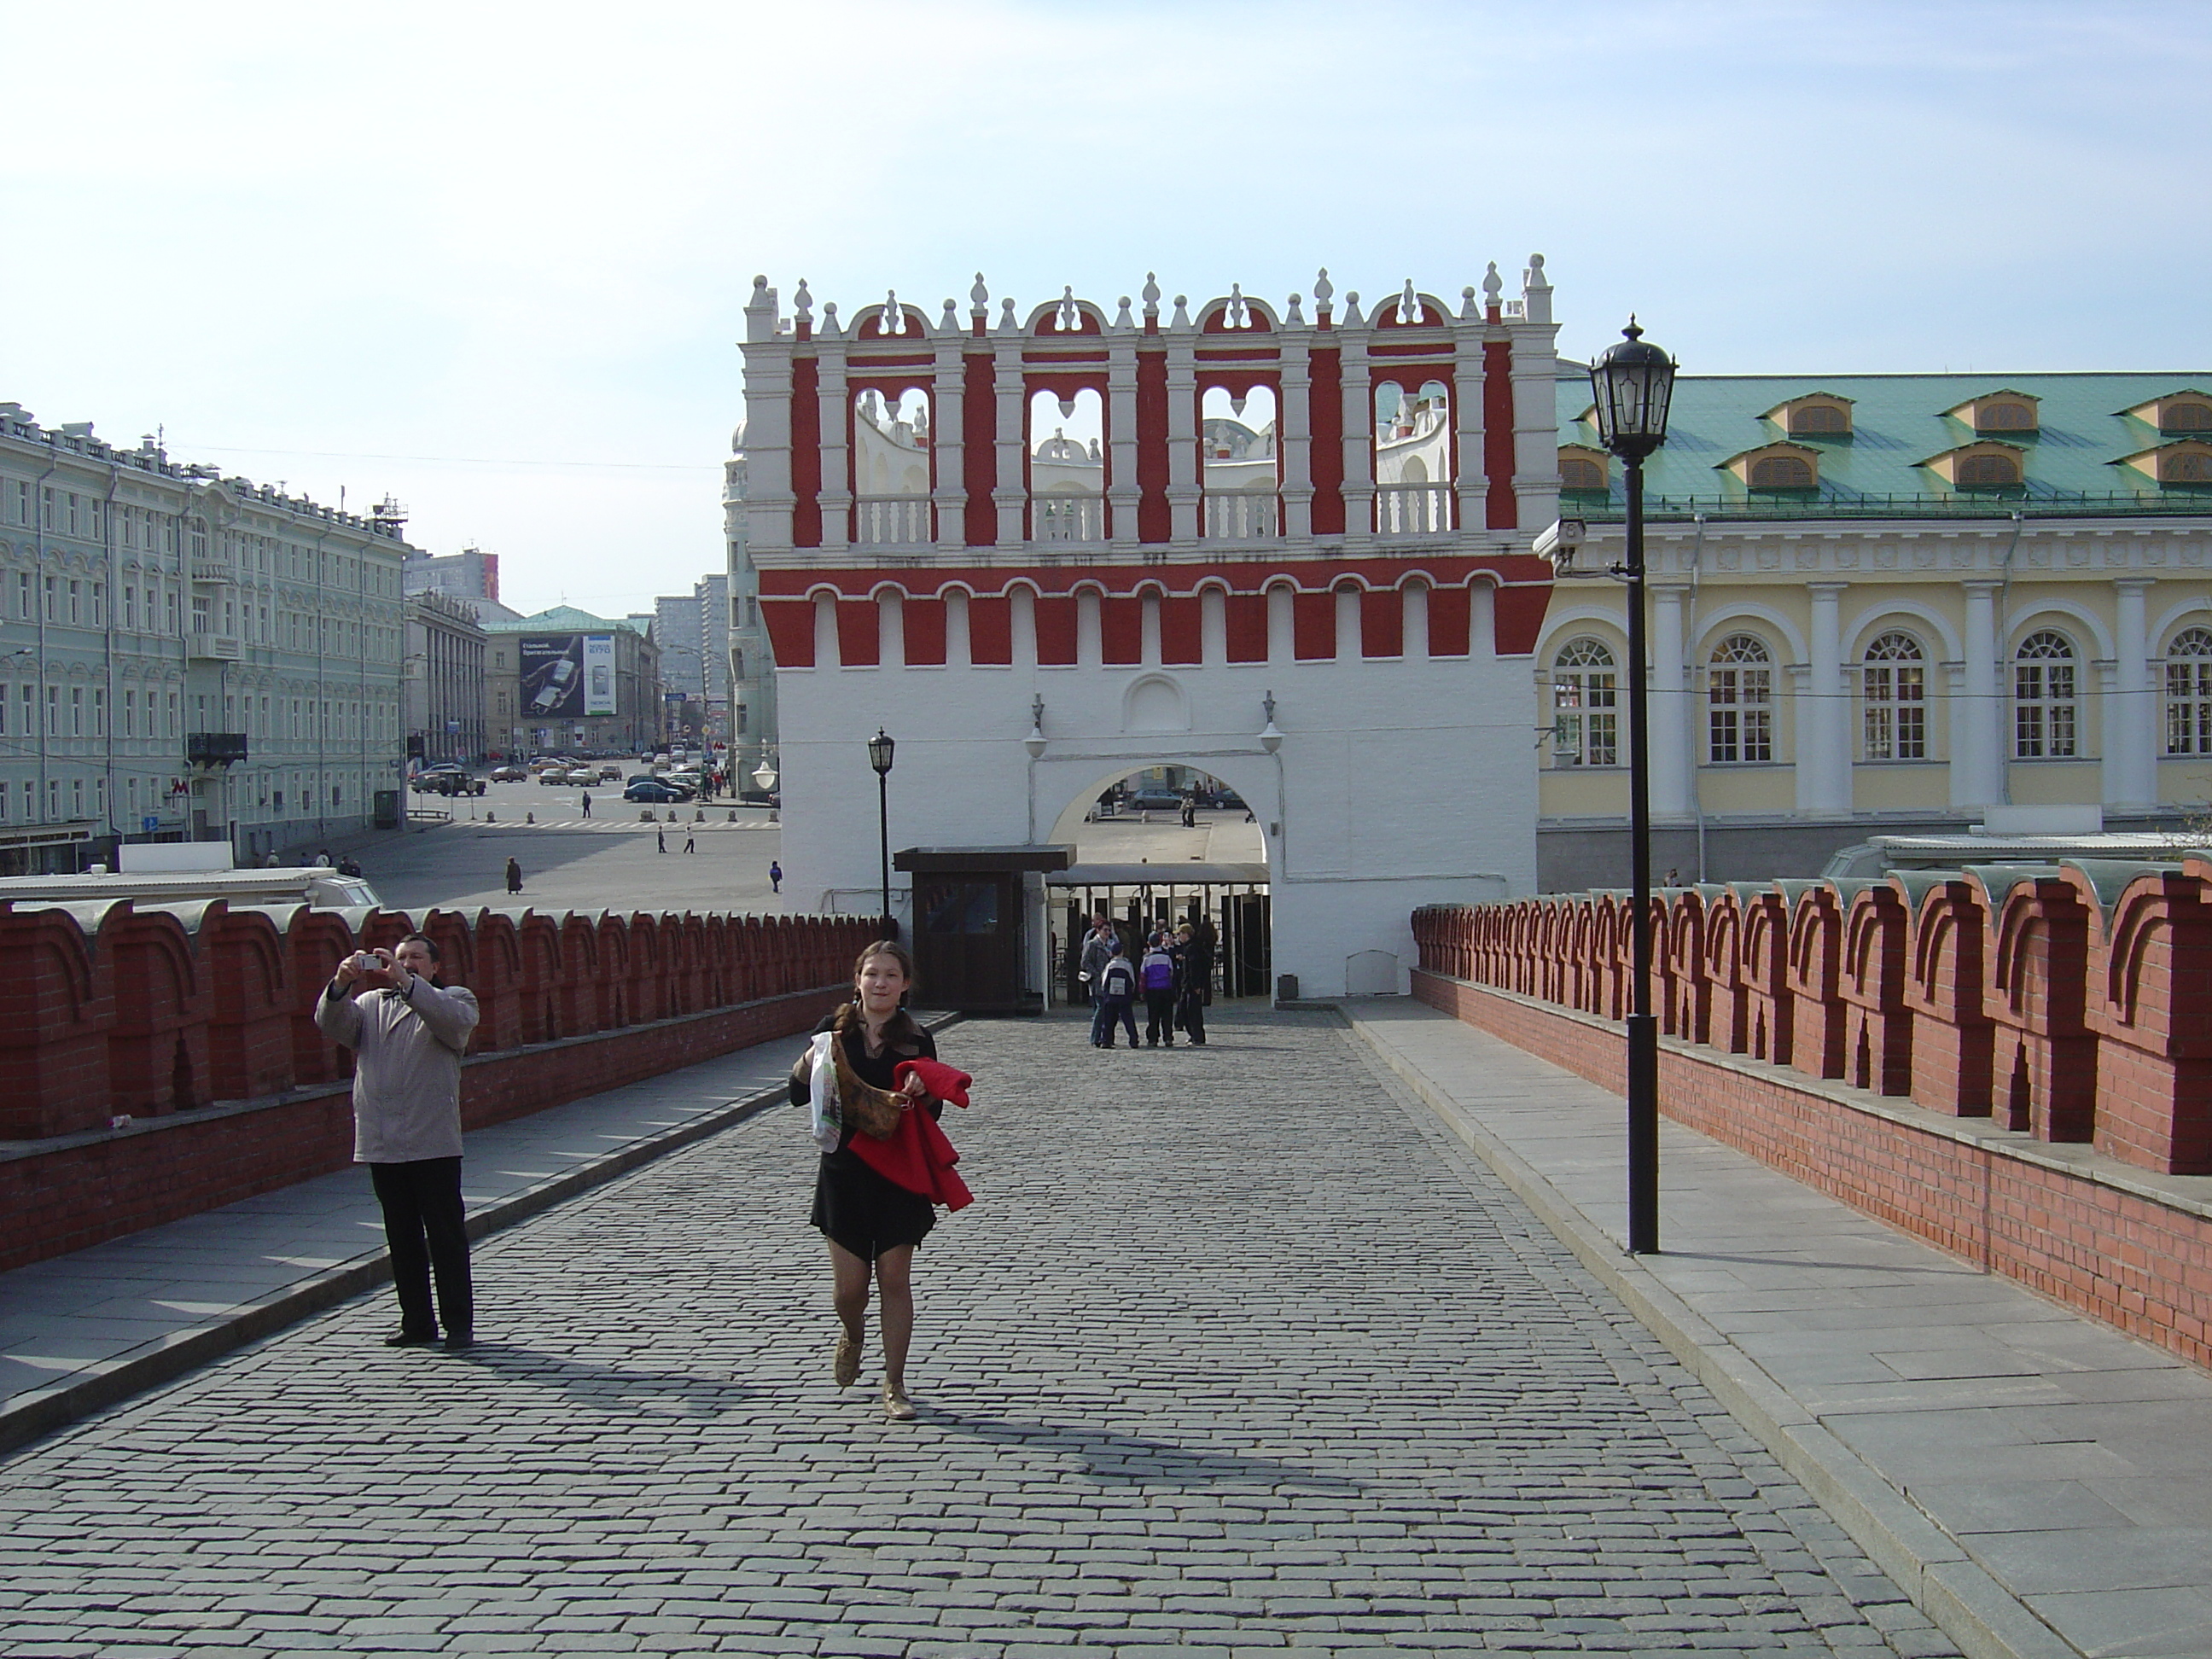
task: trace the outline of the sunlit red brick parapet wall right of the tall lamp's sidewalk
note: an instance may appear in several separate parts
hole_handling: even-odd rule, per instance
[[[2212,1365],[2212,863],[1655,898],[1661,1110]],[[1624,1088],[1626,894],[1416,911],[1413,995]]]

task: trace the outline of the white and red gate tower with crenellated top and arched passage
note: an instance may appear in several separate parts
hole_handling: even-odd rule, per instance
[[[1413,905],[1535,885],[1544,261],[1458,312],[1411,283],[1338,307],[1327,272],[1312,319],[1159,299],[993,321],[978,276],[964,323],[896,299],[841,323],[754,279],[783,865],[807,902],[876,887],[878,726],[894,849],[1035,847],[1099,779],[1183,763],[1265,830],[1274,967],[1402,989]]]

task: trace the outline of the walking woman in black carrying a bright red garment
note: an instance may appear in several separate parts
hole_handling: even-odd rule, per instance
[[[958,1152],[936,1128],[945,1099],[967,1106],[967,1073],[938,1064],[938,1044],[907,1013],[914,958],[876,940],[854,964],[854,995],[814,1029],[792,1066],[794,1106],[814,1108],[814,1228],[830,1241],[843,1332],[832,1376],[849,1389],[867,1347],[869,1281],[883,1325],[883,1413],[911,1422],[907,1349],[914,1340],[914,1250],[936,1225],[933,1203],[960,1210]],[[889,1133],[874,1126],[887,1119]]]

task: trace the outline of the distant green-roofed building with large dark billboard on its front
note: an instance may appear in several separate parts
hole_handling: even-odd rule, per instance
[[[489,754],[641,754],[659,745],[661,653],[653,617],[553,606],[484,624]]]

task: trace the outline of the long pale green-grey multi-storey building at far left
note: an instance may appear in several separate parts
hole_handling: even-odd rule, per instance
[[[0,403],[0,872],[396,807],[403,524]]]

